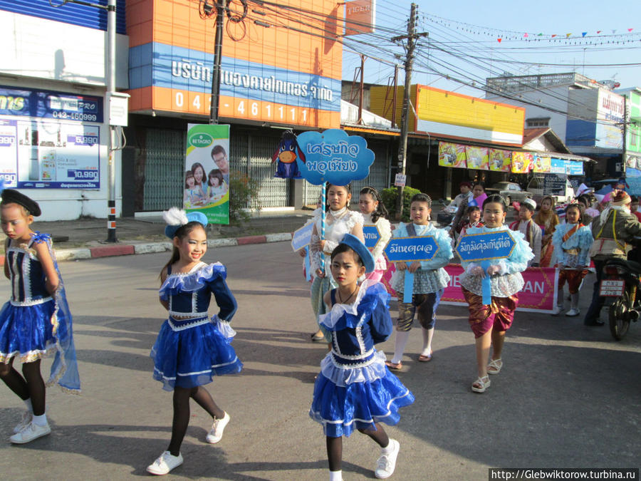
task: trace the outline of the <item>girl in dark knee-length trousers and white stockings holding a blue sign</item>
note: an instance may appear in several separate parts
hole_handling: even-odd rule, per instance
[[[405,262],[395,262],[396,271],[392,275],[392,288],[398,296],[398,321],[396,324],[396,341],[394,357],[387,361],[390,369],[402,368],[402,357],[405,344],[410,338],[412,321],[418,311],[418,319],[422,326],[423,350],[418,358],[420,362],[432,361],[432,337],[434,336],[434,323],[436,311],[441,296],[449,282],[449,275],[443,269],[454,257],[452,242],[449,234],[444,229],[437,229],[430,222],[432,212],[432,199],[427,194],[417,194],[410,202],[410,224],[401,224],[394,231],[394,237],[432,236],[439,246],[438,252],[432,260],[412,262],[409,266]],[[405,294],[406,271],[414,274],[412,283],[412,301],[402,302]]]

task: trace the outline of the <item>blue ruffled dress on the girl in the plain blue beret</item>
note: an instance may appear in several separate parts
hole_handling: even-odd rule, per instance
[[[309,415],[330,438],[374,428],[374,423],[395,425],[399,408],[412,404],[414,395],[374,348],[392,333],[390,294],[382,284],[365,280],[354,304],[335,304],[335,289],[331,296],[332,310],[319,321],[332,335],[332,350],[320,363]]]

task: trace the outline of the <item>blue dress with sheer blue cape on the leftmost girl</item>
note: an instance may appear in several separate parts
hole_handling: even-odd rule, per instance
[[[53,296],[46,289],[46,276],[33,249],[33,244],[42,242],[58,273],[58,288]],[[19,357],[22,363],[31,363],[55,352],[46,385],[58,383],[63,391],[80,392],[73,321],[51,236],[34,232],[28,243],[7,249],[5,262],[11,300],[0,311],[0,362],[9,363],[11,358]]]

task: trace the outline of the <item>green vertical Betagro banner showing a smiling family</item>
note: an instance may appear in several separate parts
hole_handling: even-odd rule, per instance
[[[229,224],[229,125],[187,125],[183,206]]]

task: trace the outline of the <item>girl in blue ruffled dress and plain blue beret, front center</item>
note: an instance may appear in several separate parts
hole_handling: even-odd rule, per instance
[[[400,445],[380,423],[395,425],[398,409],[414,402],[414,395],[385,367],[385,354],[374,348],[392,333],[390,294],[379,282],[358,284],[359,277],[374,268],[370,251],[351,234],[332,252],[330,269],[338,287],[323,297],[331,310],[319,317],[332,348],[320,363],[309,411],[327,437],[330,481],[343,479],[342,437],[354,429],[380,445],[375,475],[390,477]]]

